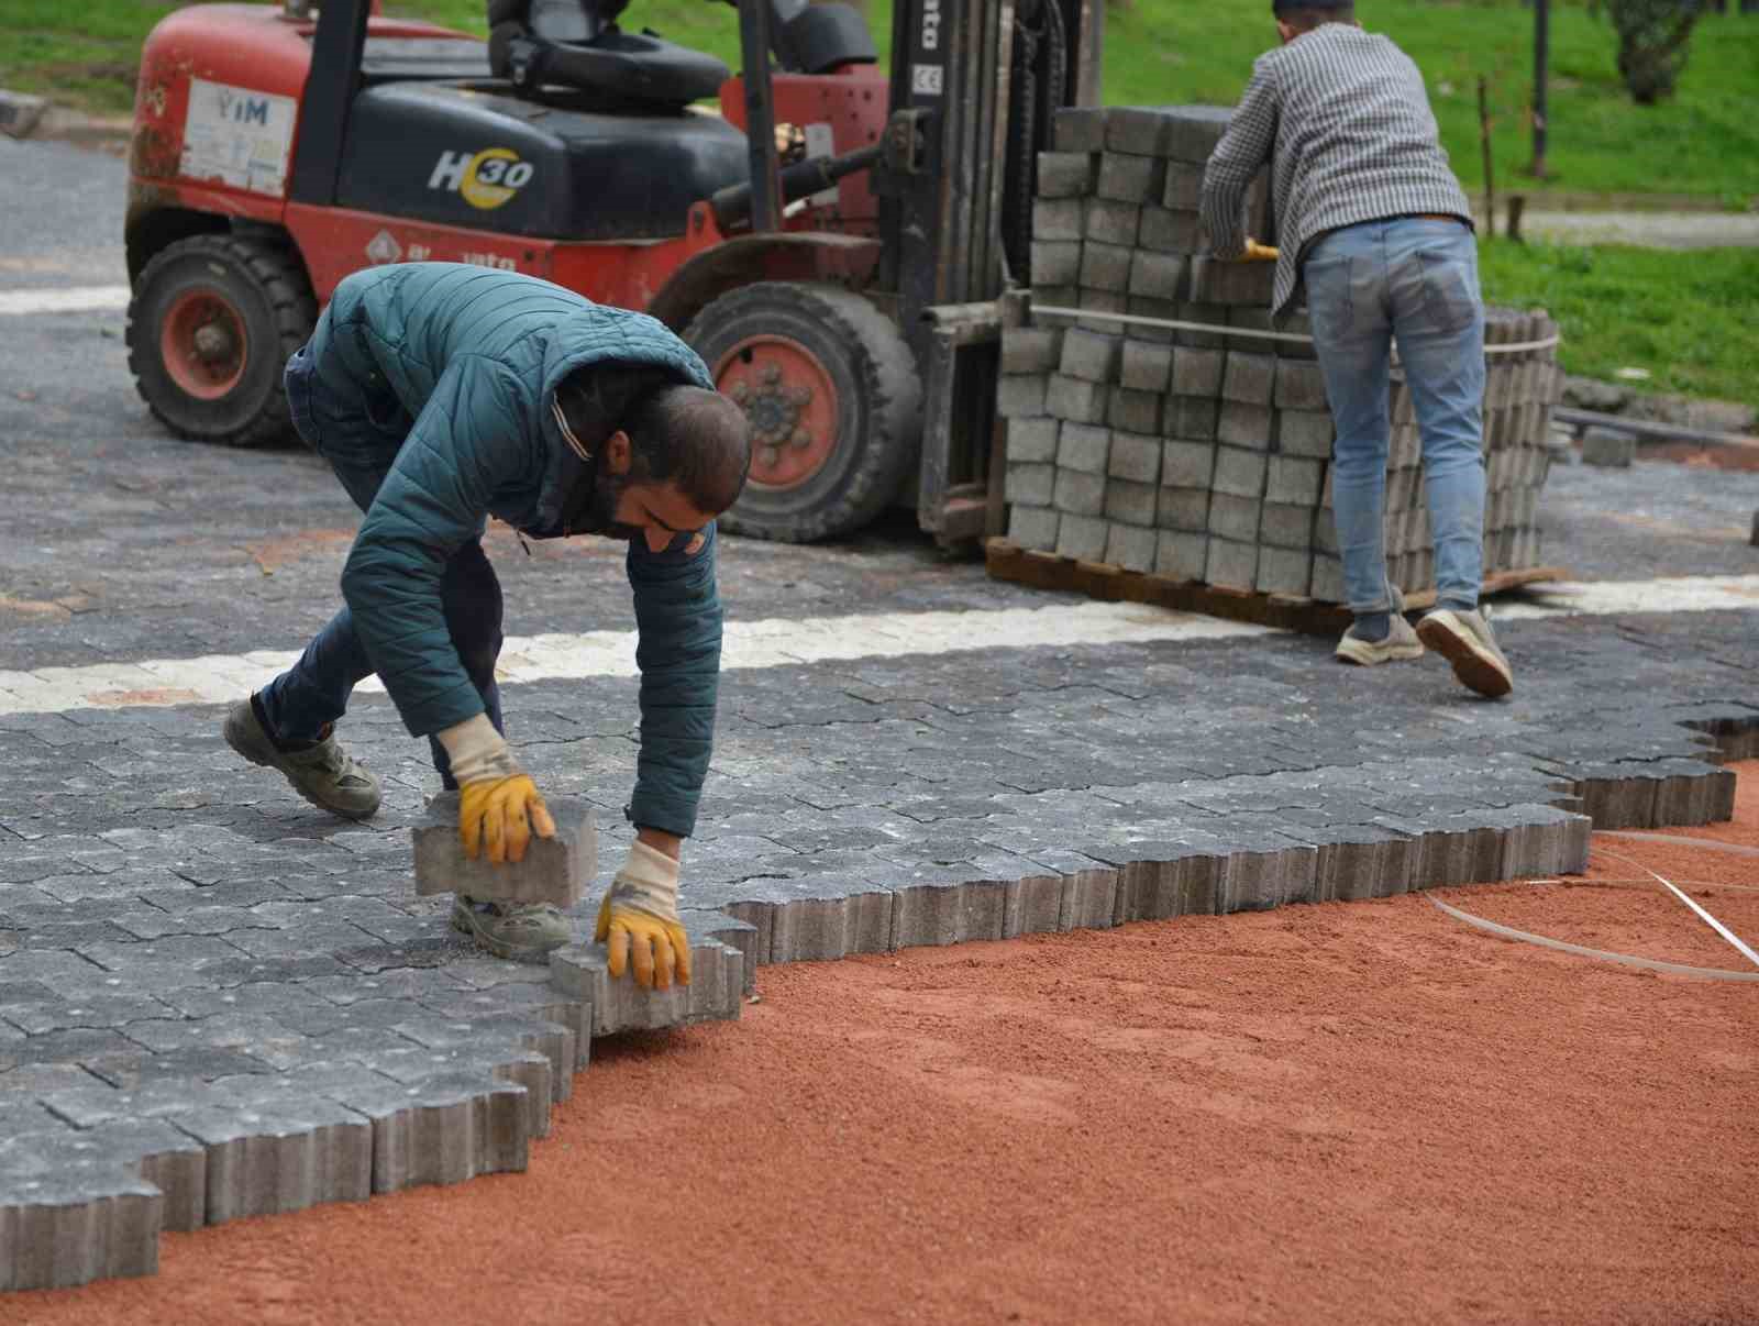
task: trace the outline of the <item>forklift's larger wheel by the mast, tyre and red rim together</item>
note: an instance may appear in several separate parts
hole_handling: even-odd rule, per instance
[[[684,339],[751,420],[751,478],[721,526],[807,543],[897,498],[920,454],[922,380],[897,324],[836,285],[732,290]]]

